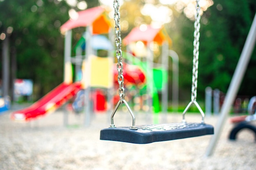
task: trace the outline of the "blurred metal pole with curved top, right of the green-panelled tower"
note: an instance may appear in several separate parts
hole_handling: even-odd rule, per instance
[[[179,105],[179,56],[173,51],[169,50],[169,55],[173,60],[173,99],[172,106],[173,111],[178,112]]]

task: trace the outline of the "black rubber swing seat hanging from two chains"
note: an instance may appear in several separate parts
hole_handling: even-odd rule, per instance
[[[101,140],[128,142],[133,144],[149,144],[152,142],[184,139],[202,135],[212,135],[213,126],[204,123],[171,123],[130,127],[110,127],[102,129]]]

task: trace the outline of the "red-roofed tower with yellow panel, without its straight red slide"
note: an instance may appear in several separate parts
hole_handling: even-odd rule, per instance
[[[80,11],[78,14],[77,20],[69,20],[61,26],[61,32],[65,31],[65,61],[71,61],[74,64],[83,63],[85,124],[89,124],[90,112],[106,111],[112,108],[113,81],[117,81],[118,73],[114,69],[117,66],[114,64],[111,45],[113,43],[110,41],[113,33],[105,9],[94,7]],[[84,20],[84,18],[90,19]],[[86,27],[86,31],[76,44],[76,56],[70,57],[71,29],[78,26]],[[107,56],[99,57],[98,50],[107,51],[105,52]],[[130,70],[124,75],[128,83],[137,83],[134,77],[144,81],[144,73],[137,66],[128,65],[128,67]],[[76,67],[75,70],[79,68]],[[91,108],[90,100],[93,101],[93,108]]]

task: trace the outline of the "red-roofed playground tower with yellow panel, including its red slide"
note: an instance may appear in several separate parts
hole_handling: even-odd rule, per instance
[[[72,56],[72,29],[77,27],[85,27],[86,31],[76,43],[75,56]],[[85,111],[85,124],[90,124],[92,111],[106,111],[112,108],[113,77],[118,73],[113,69],[116,65],[111,57],[112,43],[109,40],[112,30],[105,9],[94,7],[80,11],[76,20],[68,20],[60,29],[61,33],[65,34],[63,83],[30,107],[14,111],[11,119],[36,119],[46,113],[52,113],[73,97],[76,97],[73,109]],[[108,51],[107,57],[98,57],[98,50]],[[72,74],[73,66],[75,78]],[[129,83],[137,83],[134,78],[136,76],[144,82],[146,77],[137,66],[128,67],[130,72],[126,72],[125,77]]]

